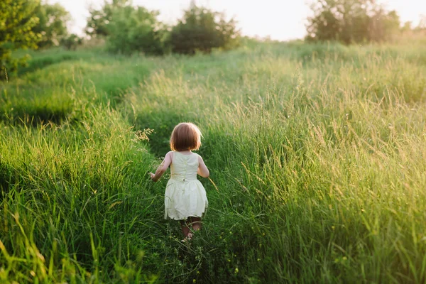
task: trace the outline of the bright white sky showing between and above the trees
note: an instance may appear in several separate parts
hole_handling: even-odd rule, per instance
[[[292,40],[305,36],[305,21],[310,15],[307,6],[310,0],[196,0],[214,11],[223,11],[238,21],[243,35],[270,37],[273,40]],[[191,0],[133,0],[133,3],[150,10],[160,11],[159,20],[173,24],[190,6]],[[379,0],[389,10],[396,10],[400,21],[413,21],[426,16],[425,0]],[[73,18],[70,31],[82,35],[89,16],[88,7],[100,7],[104,0],[48,0],[60,3],[70,11]]]

